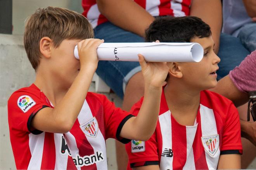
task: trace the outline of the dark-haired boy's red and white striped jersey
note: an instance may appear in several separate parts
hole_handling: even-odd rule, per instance
[[[133,106],[137,115],[143,98]],[[130,167],[159,165],[166,169],[216,169],[221,154],[241,154],[239,115],[225,97],[204,90],[194,126],[183,126],[172,116],[164,90],[156,130],[148,141],[126,144]]]

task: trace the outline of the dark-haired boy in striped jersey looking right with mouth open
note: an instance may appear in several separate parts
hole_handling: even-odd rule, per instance
[[[237,109],[227,98],[207,90],[217,85],[220,62],[209,25],[197,17],[159,18],[146,30],[146,41],[156,40],[197,42],[204,57],[199,63],[168,63],[156,130],[145,142],[126,144],[130,167],[239,169],[242,144]],[[143,100],[131,109],[134,115]]]

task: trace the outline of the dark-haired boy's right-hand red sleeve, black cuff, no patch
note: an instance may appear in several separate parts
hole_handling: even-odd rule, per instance
[[[242,154],[240,120],[234,104],[229,106],[221,142],[221,155]]]

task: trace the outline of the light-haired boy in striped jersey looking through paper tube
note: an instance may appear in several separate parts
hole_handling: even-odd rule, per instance
[[[71,10],[38,9],[26,22],[24,47],[35,82],[8,100],[10,141],[17,169],[107,169],[106,139],[147,140],[156,128],[166,63],[146,63],[145,97],[137,117],[104,95],[88,92],[97,68],[88,20]],[[80,60],[74,57],[78,45]]]

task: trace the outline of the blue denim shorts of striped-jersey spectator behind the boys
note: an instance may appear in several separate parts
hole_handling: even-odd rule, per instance
[[[144,38],[125,31],[111,22],[100,24],[94,29],[95,38],[104,39],[105,42],[145,42]],[[240,40],[227,34],[221,34],[220,50],[218,56],[221,58],[218,70],[218,79],[227,75],[230,70],[238,66],[249,54]],[[138,62],[128,61],[99,61],[96,70],[97,75],[123,99],[125,87],[130,78],[141,71]]]

